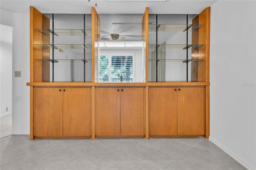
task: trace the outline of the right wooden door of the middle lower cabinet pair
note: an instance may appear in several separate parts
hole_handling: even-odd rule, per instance
[[[120,88],[120,135],[144,135],[144,89]]]

